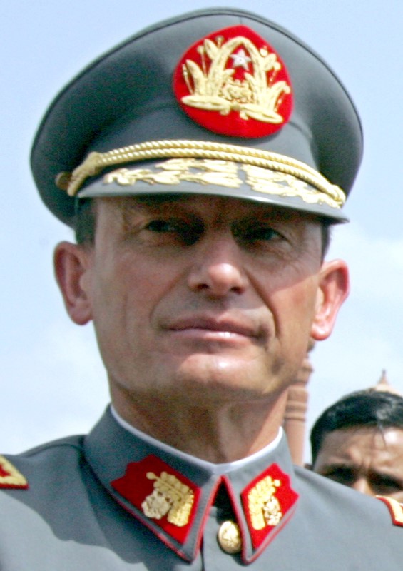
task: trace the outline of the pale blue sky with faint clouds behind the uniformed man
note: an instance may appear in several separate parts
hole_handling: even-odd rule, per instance
[[[53,246],[71,231],[42,205],[29,170],[53,96],[92,59],[144,26],[204,0],[1,0],[0,451],[87,432],[108,403],[91,325],[66,316]],[[329,258],[352,293],[311,361],[308,425],[336,398],[377,383],[403,392],[403,2],[221,0],[300,36],[335,69],[362,117],[364,161]]]

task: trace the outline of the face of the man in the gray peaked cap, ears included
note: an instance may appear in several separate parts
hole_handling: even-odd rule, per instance
[[[93,320],[112,394],[273,398],[347,295],[310,216],[211,196],[96,206],[94,246],[58,246],[56,273],[71,318]]]

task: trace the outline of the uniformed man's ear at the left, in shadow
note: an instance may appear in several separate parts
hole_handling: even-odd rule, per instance
[[[70,242],[59,243],[53,263],[58,287],[71,320],[85,325],[91,320],[88,263],[91,249]]]

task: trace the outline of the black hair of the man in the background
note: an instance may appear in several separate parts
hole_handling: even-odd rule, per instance
[[[312,466],[315,466],[325,436],[334,430],[359,426],[403,429],[403,397],[374,389],[346,395],[327,408],[310,434]]]

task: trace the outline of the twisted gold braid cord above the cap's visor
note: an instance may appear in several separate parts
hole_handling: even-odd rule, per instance
[[[315,171],[315,168],[301,161],[257,148],[206,141],[148,141],[117,148],[107,153],[93,152],[74,169],[73,173],[68,175],[60,173],[56,178],[56,184],[59,188],[66,190],[69,196],[76,196],[84,181],[91,176],[97,176],[104,168],[155,158],[218,159],[267,168],[270,171],[277,171],[305,181],[329,196],[339,207],[345,203],[345,193],[339,186],[330,183]]]

